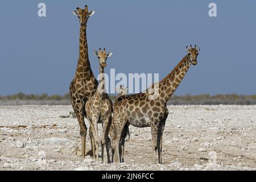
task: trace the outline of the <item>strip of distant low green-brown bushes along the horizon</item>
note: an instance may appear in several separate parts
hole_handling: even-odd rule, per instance
[[[118,97],[110,95],[115,101]],[[18,93],[10,96],[0,96],[0,105],[70,105],[69,94],[64,96],[48,94],[24,94]],[[256,95],[243,96],[238,94],[200,94],[191,96],[172,96],[169,105],[256,105]]]

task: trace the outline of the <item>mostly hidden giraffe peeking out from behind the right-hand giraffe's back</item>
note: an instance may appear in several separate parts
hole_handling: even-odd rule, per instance
[[[127,89],[128,88],[125,87],[124,85],[120,85],[119,88],[115,88],[115,91],[118,93],[118,96],[121,97],[121,96],[126,96],[128,94]],[[113,108],[115,107],[115,105],[117,103],[118,103],[117,101],[114,102]],[[110,127],[109,134],[110,134],[110,138],[113,139],[114,135],[113,135],[113,127],[112,126]],[[122,162],[124,162],[125,139],[126,139],[127,135],[129,136],[129,139],[130,139],[130,130],[129,130],[128,123],[126,123],[125,127],[123,128],[122,134],[121,134],[121,139],[120,139],[119,155],[120,155]],[[113,162],[114,162],[114,148],[112,148],[112,163]]]

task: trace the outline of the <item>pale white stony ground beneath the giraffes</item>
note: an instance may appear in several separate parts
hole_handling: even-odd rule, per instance
[[[89,155],[82,161],[77,119],[60,118],[71,106],[0,106],[0,170],[256,169],[256,106],[168,109],[164,164],[153,165],[150,128],[130,126],[126,163],[96,163]]]

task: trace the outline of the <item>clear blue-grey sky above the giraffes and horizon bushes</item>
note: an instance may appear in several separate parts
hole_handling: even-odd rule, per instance
[[[46,3],[47,17],[38,17]],[[217,17],[208,15],[217,4]],[[175,94],[256,94],[256,1],[1,1],[0,95],[18,92],[68,93],[79,57],[76,7],[96,13],[88,20],[89,57],[113,52],[105,72],[159,73],[160,80],[186,55],[201,47]]]

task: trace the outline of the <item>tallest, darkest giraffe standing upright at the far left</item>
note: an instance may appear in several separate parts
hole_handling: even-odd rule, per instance
[[[87,127],[84,122],[84,117],[86,117],[85,103],[89,97],[93,96],[98,86],[98,81],[94,77],[92,69],[90,68],[86,37],[87,20],[94,14],[94,11],[88,11],[88,6],[86,5],[84,10],[77,7],[77,9],[73,11],[73,14],[79,18],[80,22],[80,44],[79,60],[77,63],[75,77],[73,78],[69,87],[69,94],[71,96],[73,110],[75,111],[80,126],[80,135],[82,139],[82,159],[84,159],[87,133]]]

